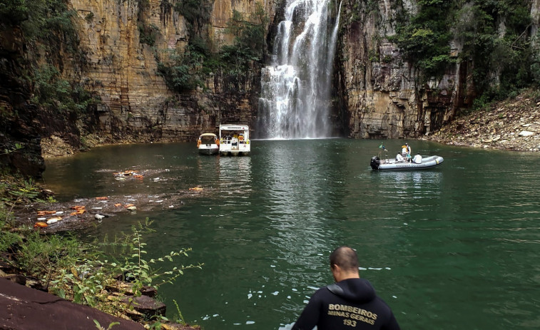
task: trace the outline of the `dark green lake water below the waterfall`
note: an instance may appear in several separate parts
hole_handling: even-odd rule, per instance
[[[375,140],[253,140],[249,157],[198,155],[195,143],[118,145],[48,160],[57,200],[203,194],[180,207],[117,213],[82,237],[146,217],[148,259],[191,247],[204,263],[159,289],[173,317],[213,329],[289,326],[332,282],[328,254],[357,249],[360,276],[402,329],[540,329],[540,155],[408,141],[435,169],[373,172]],[[402,140],[384,141],[389,157]],[[154,170],[143,180],[113,171]],[[129,197],[126,197],[129,198]]]

